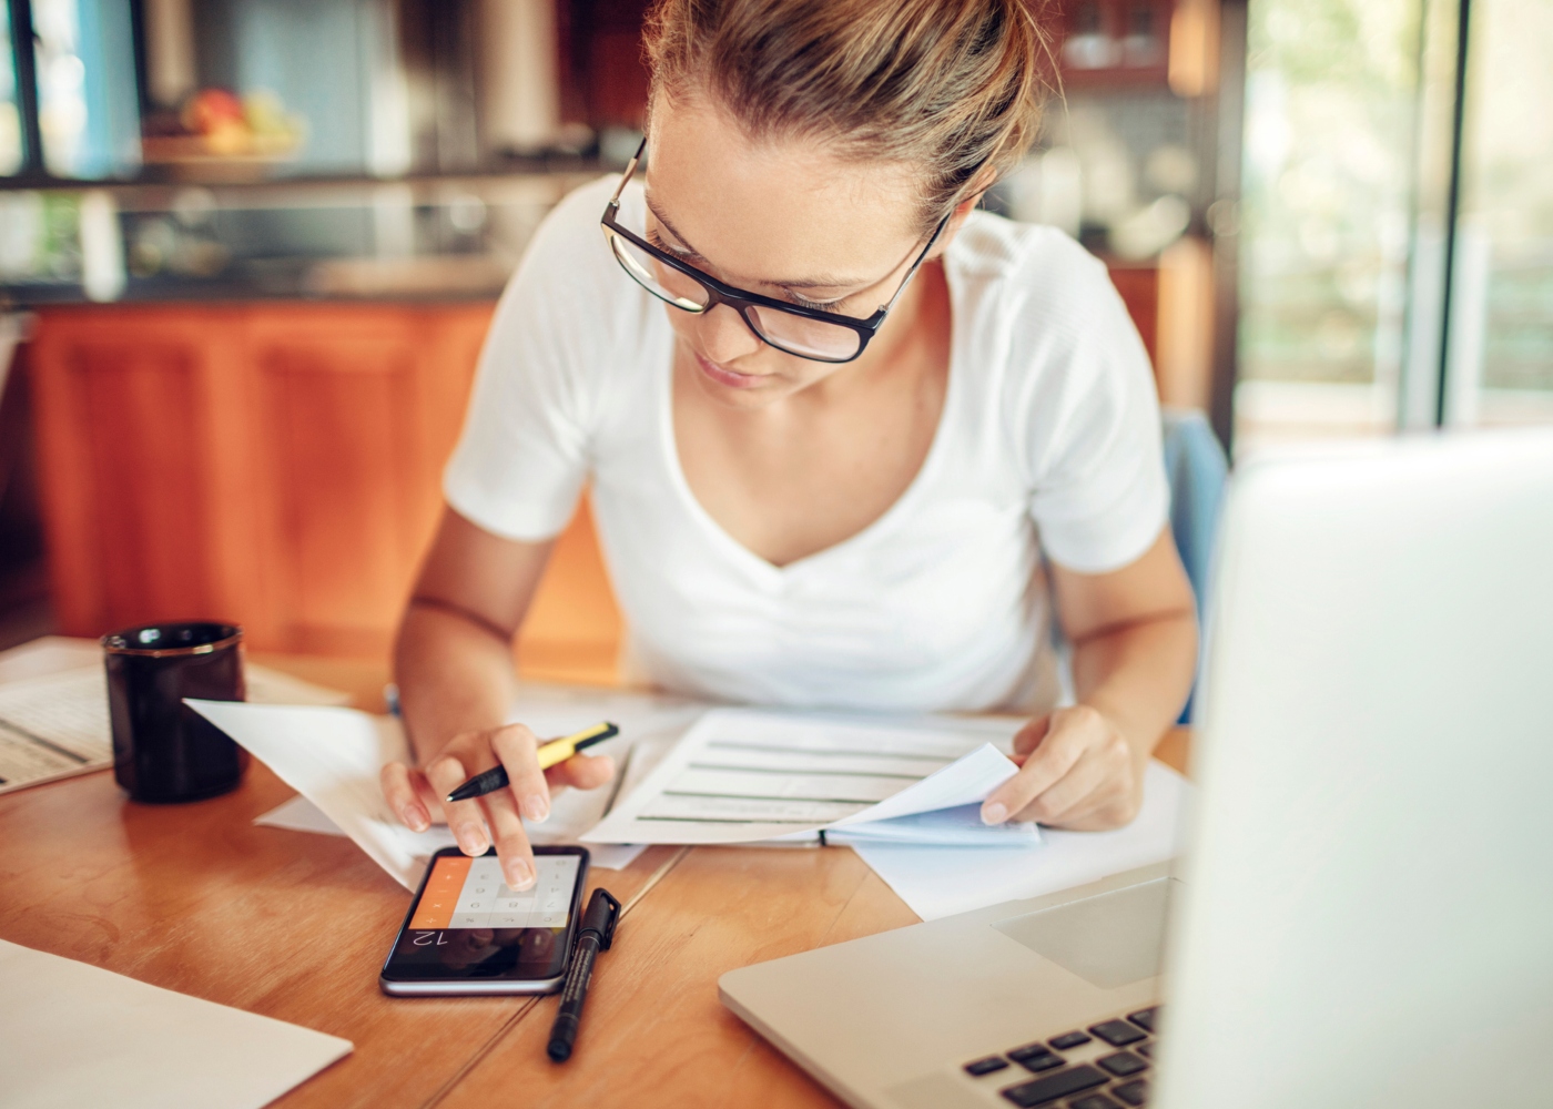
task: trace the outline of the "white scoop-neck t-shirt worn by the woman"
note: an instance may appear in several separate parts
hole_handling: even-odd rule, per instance
[[[944,410],[901,499],[786,567],[685,481],[665,306],[617,264],[618,183],[545,219],[497,308],[444,475],[461,516],[556,536],[592,483],[634,668],[733,702],[1036,713],[1058,696],[1041,553],[1086,573],[1141,556],[1168,511],[1148,356],[1104,266],[1061,231],[975,213],[946,252]],[[621,202],[641,227],[643,193]]]

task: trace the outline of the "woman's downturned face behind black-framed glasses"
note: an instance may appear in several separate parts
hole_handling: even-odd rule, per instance
[[[648,241],[727,284],[867,318],[926,242],[905,166],[845,162],[812,143],[752,144],[700,98],[660,98],[651,134]],[[862,359],[842,365],[769,346],[727,304],[665,311],[707,396],[759,408],[887,353],[910,301],[909,290]]]

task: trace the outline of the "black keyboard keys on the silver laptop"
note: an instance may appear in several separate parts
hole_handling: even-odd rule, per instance
[[[1006,1081],[1019,1069],[1034,1078],[999,1090],[1020,1109],[1053,1106],[1065,1109],[1127,1109],[1148,1104],[1149,1059],[1154,1055],[1154,1005],[1126,1017],[1101,1020],[1087,1030],[1065,1031],[1048,1041],[1011,1047],[1002,1055],[989,1055],[964,1064],[972,1078],[997,1075]],[[1093,1045],[1093,1047],[1092,1047]],[[1112,1050],[1106,1050],[1106,1048]],[[1101,1055],[1093,1055],[1095,1050]],[[1067,1055],[1082,1052],[1082,1062]],[[1067,1098],[1064,1101],[1064,1098]]]

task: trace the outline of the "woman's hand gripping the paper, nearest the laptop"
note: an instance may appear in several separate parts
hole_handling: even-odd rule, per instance
[[[1037,820],[1056,828],[1120,828],[1143,805],[1140,753],[1090,705],[1058,708],[1014,736],[1019,774],[981,803],[981,820]]]

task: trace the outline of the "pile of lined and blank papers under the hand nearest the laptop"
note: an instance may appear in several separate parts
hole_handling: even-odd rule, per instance
[[[1115,831],[981,825],[1022,721],[707,713],[585,842],[741,843],[825,833],[922,920],[1041,896],[1176,856],[1190,786],[1151,763]]]

